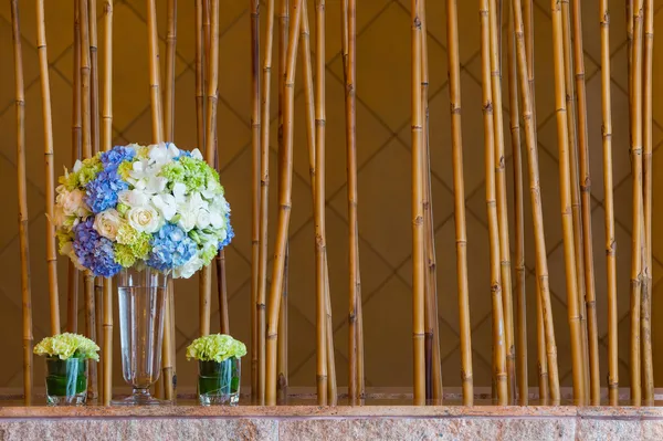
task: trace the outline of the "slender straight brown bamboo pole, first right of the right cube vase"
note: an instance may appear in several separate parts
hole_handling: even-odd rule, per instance
[[[261,84],[260,84],[260,0],[251,0],[251,146],[252,146],[252,224],[251,224],[251,393],[256,392],[255,384],[257,371],[254,369],[253,360],[257,355],[257,297],[260,291],[260,256],[261,256]],[[265,85],[265,87],[269,86]],[[269,125],[270,119],[265,119]],[[217,266],[217,271],[220,266]],[[219,280],[219,277],[217,277]]]

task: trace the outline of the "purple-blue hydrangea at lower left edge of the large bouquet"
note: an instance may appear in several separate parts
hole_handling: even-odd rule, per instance
[[[122,266],[115,262],[113,242],[102,238],[93,225],[94,218],[90,217],[74,228],[74,252],[95,276],[112,277]]]

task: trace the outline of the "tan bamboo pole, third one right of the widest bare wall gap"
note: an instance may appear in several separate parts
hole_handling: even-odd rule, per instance
[[[449,101],[451,102],[451,151],[455,222],[456,279],[461,334],[461,381],[463,405],[474,402],[472,375],[472,324],[467,282],[467,230],[465,222],[465,182],[463,178],[463,135],[461,117],[461,62],[459,57],[457,0],[446,0],[446,55],[449,65]]]

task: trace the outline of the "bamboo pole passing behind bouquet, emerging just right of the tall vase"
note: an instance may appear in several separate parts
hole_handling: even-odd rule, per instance
[[[166,11],[166,86],[164,88],[164,140],[175,141],[175,60],[177,45],[177,0],[168,0]],[[164,399],[173,401],[177,397],[175,357],[175,291],[169,283],[166,290],[164,317],[164,343],[161,346],[161,381]]]

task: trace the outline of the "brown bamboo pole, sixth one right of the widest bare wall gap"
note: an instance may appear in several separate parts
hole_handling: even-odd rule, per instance
[[[509,4],[507,38],[508,65],[508,107],[511,122],[512,150],[514,161],[514,230],[515,230],[515,345],[516,345],[516,380],[518,403],[527,406],[527,307],[525,296],[525,219],[523,210],[523,150],[520,147],[520,118],[518,116],[518,84],[515,59],[515,28],[512,6]]]

